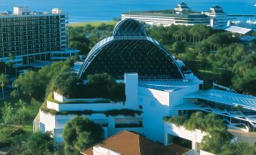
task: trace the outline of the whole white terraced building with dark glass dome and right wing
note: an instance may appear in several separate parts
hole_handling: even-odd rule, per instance
[[[166,52],[157,41],[147,37],[138,21],[122,20],[117,24],[113,37],[94,46],[78,76],[86,83],[88,74],[111,74],[117,82],[125,84],[125,102],[66,99],[65,96],[54,93],[57,102],[47,101],[45,107],[57,111],[56,114],[40,110],[34,120],[34,129],[53,132],[54,143],[61,143],[61,133],[66,122],[75,116],[70,111],[79,111],[80,114],[85,111],[82,116],[102,124],[105,138],[122,130],[132,130],[152,141],[168,145],[171,143],[168,137],[175,135],[192,141],[190,149],[195,154],[200,153],[199,145],[203,135],[207,133],[180,130],[177,126],[165,123],[163,117],[187,114],[189,111],[205,111],[228,120],[226,122],[234,129],[242,129],[242,124],[248,126],[248,131],[255,131],[255,97],[221,90],[201,90],[203,81],[196,78],[190,70],[181,71],[180,68],[184,68],[184,65]],[[123,109],[142,113],[111,116],[104,112]],[[88,114],[86,111],[92,112]]]

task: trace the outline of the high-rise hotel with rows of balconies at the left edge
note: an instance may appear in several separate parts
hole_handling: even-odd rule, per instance
[[[67,24],[67,15],[59,8],[35,12],[14,7],[13,12],[0,13],[0,61],[23,67],[77,54],[79,50],[68,48]]]

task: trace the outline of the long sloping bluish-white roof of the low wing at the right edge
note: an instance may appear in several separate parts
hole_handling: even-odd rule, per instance
[[[256,97],[222,90],[200,90],[184,96],[185,99],[205,99],[226,105],[242,106],[256,110]]]

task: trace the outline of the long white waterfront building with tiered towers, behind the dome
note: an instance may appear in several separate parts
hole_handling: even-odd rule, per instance
[[[122,20],[132,18],[155,26],[204,24],[214,29],[227,26],[227,14],[219,6],[208,12],[195,13],[185,3],[180,3],[173,11],[133,11],[122,14]]]

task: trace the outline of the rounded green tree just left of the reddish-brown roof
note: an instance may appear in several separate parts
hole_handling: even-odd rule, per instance
[[[103,139],[103,129],[85,117],[73,117],[63,129],[66,154],[79,154],[79,151]]]

